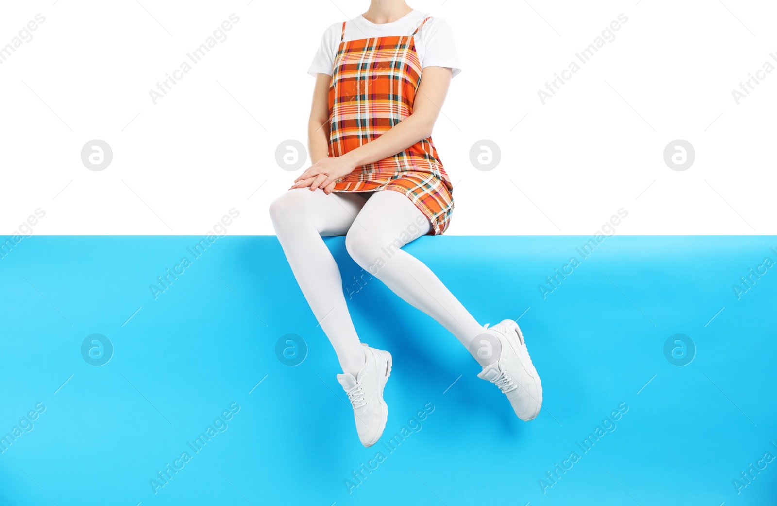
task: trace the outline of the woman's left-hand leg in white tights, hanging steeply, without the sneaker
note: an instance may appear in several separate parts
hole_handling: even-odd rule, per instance
[[[295,188],[270,204],[275,233],[299,288],[343,372],[354,376],[364,365],[364,351],[345,302],[340,269],[322,236],[344,236],[365,202],[358,194]]]

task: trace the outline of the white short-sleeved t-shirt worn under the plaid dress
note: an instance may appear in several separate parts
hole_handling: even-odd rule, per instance
[[[345,23],[345,37],[343,40],[359,40],[374,37],[394,37],[398,35],[412,35],[413,31],[423,23],[429,14],[413,9],[394,23],[375,24],[370,23],[361,14]],[[343,23],[334,23],[326,29],[321,37],[319,51],[315,53],[308,74],[315,77],[316,74],[332,75],[337,49],[340,47],[340,33]],[[416,52],[424,67],[449,67],[451,77],[455,77],[462,69],[458,63],[458,53],[453,41],[451,26],[445,19],[432,16],[421,26],[416,33]]]

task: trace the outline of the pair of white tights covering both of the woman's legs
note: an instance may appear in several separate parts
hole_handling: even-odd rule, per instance
[[[343,372],[355,377],[364,365],[364,352],[350,319],[340,270],[322,236],[346,236],[346,249],[357,264],[469,349],[483,326],[429,267],[399,249],[430,231],[428,218],[398,191],[379,190],[365,197],[295,188],[270,204],[280,246]]]

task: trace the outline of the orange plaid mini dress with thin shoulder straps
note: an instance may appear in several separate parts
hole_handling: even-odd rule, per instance
[[[430,17],[423,20],[426,23]],[[329,86],[329,156],[344,155],[378,138],[413,113],[421,65],[412,35],[343,42]],[[396,190],[429,218],[429,235],[448,229],[453,185],[431,137],[396,155],[357,167],[333,191]]]

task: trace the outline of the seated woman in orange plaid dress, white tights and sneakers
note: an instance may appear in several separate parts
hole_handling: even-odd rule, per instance
[[[313,165],[270,204],[294,277],[343,368],[337,380],[364,446],[385,428],[392,356],[360,342],[322,236],[346,236],[356,263],[453,333],[483,366],[478,376],[500,387],[518,417],[534,419],[542,404],[517,323],[481,326],[427,266],[400,249],[448,228],[453,185],[431,131],[459,72],[448,24],[404,0],[372,0],[364,14],[329,26],[308,69],[315,76]]]

